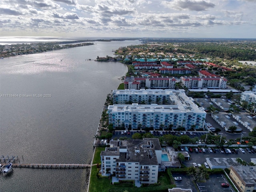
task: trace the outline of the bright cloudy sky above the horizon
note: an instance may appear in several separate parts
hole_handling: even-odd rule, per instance
[[[256,0],[1,0],[0,36],[256,38]]]

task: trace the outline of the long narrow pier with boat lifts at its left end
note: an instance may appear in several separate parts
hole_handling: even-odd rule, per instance
[[[23,156],[22,156],[23,159]],[[34,163],[21,163],[18,156],[0,156],[0,171],[3,168],[12,163],[12,167],[17,168],[47,168],[47,169],[78,169],[78,168],[91,168],[96,164],[34,164]]]

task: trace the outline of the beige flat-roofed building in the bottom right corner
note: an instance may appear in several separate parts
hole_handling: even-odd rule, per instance
[[[230,178],[240,192],[252,192],[256,190],[255,166],[231,166]]]

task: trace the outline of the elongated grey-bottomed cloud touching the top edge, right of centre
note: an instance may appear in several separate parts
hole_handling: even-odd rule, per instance
[[[205,0],[173,0],[171,2],[162,1],[161,4],[174,10],[178,9],[190,11],[206,11],[209,8],[215,7],[215,4]]]

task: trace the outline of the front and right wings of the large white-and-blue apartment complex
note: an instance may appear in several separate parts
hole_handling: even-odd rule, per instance
[[[157,95],[152,95],[156,97]],[[152,99],[155,100],[155,99]],[[139,127],[153,127],[154,129],[184,127],[186,130],[204,127],[206,112],[198,107],[192,98],[184,92],[178,91],[170,94],[170,105],[140,105],[114,104],[108,106],[109,124],[113,128],[123,125],[126,130],[129,125],[132,129]]]

